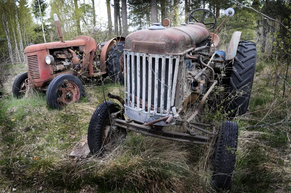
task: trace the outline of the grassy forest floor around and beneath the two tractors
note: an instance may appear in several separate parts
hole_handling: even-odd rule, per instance
[[[248,113],[232,120],[239,125],[234,193],[291,192],[291,93],[274,95],[268,68],[258,63]],[[50,109],[45,93],[32,90],[21,99],[13,97],[13,81],[23,71],[24,65],[16,65],[0,72],[5,77],[0,192],[214,192],[213,151],[206,145],[131,132],[102,157],[71,157],[76,147],[86,144],[91,116],[104,101],[102,85],[86,86],[87,97],[80,103]],[[122,85],[105,82],[105,94],[123,95]],[[227,120],[217,112],[207,118]]]

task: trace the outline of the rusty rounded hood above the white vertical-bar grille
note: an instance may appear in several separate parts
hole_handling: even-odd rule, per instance
[[[210,37],[208,29],[196,24],[172,28],[152,26],[151,28],[128,35],[124,50],[137,53],[182,55]]]

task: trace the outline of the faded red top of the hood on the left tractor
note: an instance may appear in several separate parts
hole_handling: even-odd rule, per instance
[[[47,50],[47,49],[71,48],[71,47],[76,47],[76,46],[85,46],[87,40],[90,40],[90,37],[85,36],[85,35],[81,35],[81,36],[76,37],[74,40],[69,40],[69,41],[64,41],[64,42],[49,42],[49,43],[43,43],[43,44],[35,44],[35,45],[31,45],[31,46],[26,47],[24,49],[24,53],[31,53],[31,52]]]

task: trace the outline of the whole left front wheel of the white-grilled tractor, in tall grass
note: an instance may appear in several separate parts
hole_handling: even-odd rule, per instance
[[[118,144],[126,135],[126,129],[117,127],[113,130],[111,113],[118,112],[120,106],[116,103],[107,101],[101,103],[94,111],[88,127],[88,146],[91,154],[102,153],[110,147]],[[124,119],[123,115],[118,114],[118,119]]]

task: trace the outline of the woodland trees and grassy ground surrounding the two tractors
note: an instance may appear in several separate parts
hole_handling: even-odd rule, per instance
[[[91,116],[104,101],[100,93],[122,95],[122,85],[107,79],[89,84],[87,97],[63,110],[50,109],[45,93],[13,97],[13,81],[26,71],[24,48],[59,41],[54,13],[65,40],[90,35],[97,26],[93,37],[101,43],[170,18],[177,0],[106,3],[108,15],[101,20],[96,0],[0,0],[0,192],[214,192],[213,151],[207,146],[128,133],[104,157],[69,156],[86,143]],[[180,0],[171,22],[187,23],[191,11],[209,8],[217,27],[228,7],[235,15],[217,32],[219,49],[242,31],[241,39],[256,42],[258,50],[248,112],[232,119],[240,129],[232,192],[291,192],[291,1]],[[228,120],[223,109],[207,105],[201,116],[217,127]]]

